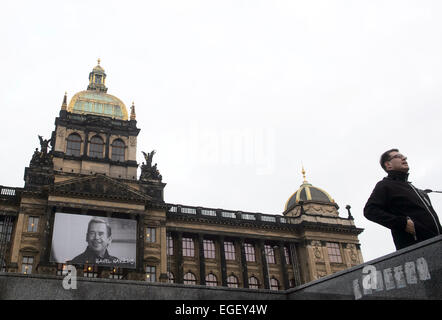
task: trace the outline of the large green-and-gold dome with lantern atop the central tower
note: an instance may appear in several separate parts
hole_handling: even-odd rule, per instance
[[[107,93],[105,80],[106,74],[98,60],[98,65],[89,74],[87,90],[80,91],[72,97],[67,111],[128,120],[126,106],[120,99]]]

